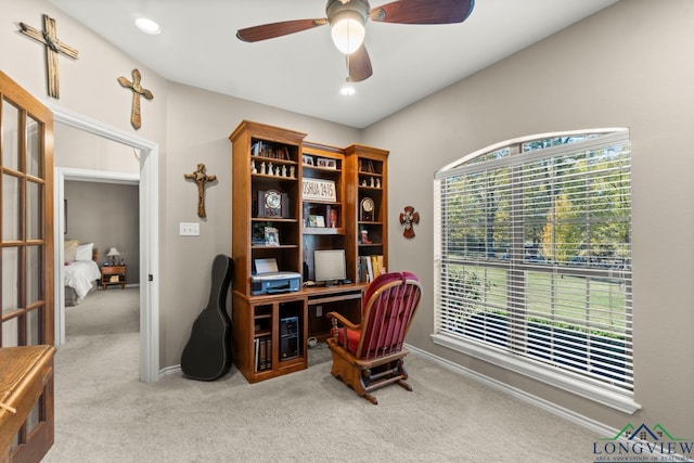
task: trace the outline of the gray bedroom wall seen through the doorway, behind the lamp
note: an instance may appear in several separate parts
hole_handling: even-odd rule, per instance
[[[116,247],[125,259],[127,283],[140,283],[139,188],[116,183],[65,181],[66,240],[94,243],[99,265]]]

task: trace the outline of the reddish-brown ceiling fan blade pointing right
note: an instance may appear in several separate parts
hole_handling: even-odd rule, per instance
[[[369,12],[372,21],[399,24],[452,24],[470,16],[475,0],[398,0]]]

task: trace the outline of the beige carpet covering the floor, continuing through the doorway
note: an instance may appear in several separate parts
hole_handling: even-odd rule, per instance
[[[46,462],[591,462],[601,437],[410,355],[408,393],[359,398],[330,374],[324,345],[305,371],[255,385],[138,381],[137,290],[68,308],[55,357],[55,443]]]

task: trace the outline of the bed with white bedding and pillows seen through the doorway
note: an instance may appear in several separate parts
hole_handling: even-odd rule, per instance
[[[93,291],[101,279],[99,250],[93,243],[80,244],[77,240],[65,241],[65,266],[63,284],[65,285],[65,305],[76,306]]]

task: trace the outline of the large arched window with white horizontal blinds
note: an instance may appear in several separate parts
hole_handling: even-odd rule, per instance
[[[435,177],[434,342],[633,402],[626,129],[527,137]]]

